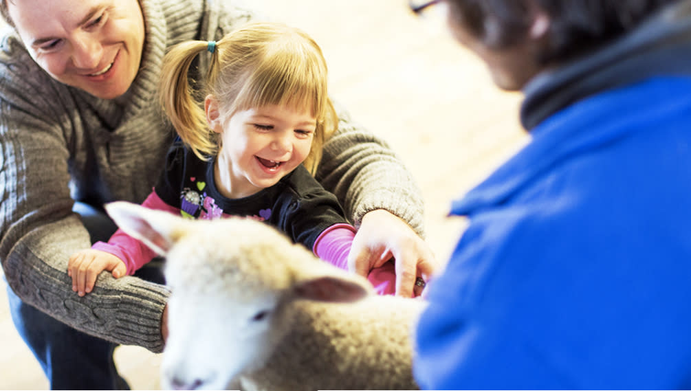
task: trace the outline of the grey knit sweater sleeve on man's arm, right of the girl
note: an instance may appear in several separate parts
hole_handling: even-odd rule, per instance
[[[316,179],[356,227],[366,213],[386,209],[424,237],[424,202],[413,174],[384,140],[337,109],[339,127],[324,144]]]

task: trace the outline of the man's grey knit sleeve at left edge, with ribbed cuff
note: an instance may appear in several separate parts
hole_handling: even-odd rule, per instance
[[[84,297],[70,287],[67,263],[91,246],[72,211],[71,158],[86,155],[73,132],[83,122],[75,95],[35,66],[18,39],[0,50],[0,262],[24,303],[115,343],[160,352],[169,290],[140,278],[102,274]],[[71,122],[70,122],[71,121]],[[82,149],[83,148],[83,149]]]

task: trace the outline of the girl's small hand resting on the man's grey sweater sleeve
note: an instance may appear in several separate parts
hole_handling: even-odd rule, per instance
[[[106,251],[86,249],[77,251],[70,256],[67,264],[67,275],[72,277],[72,290],[79,296],[84,296],[93,290],[96,278],[101,271],[111,271],[113,277],[125,275],[125,263]]]

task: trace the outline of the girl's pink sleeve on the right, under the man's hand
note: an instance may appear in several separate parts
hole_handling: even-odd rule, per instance
[[[328,227],[319,234],[319,238],[316,238],[314,255],[340,269],[348,270],[348,254],[355,232],[354,227],[349,224]],[[367,279],[374,285],[377,294],[396,293],[396,269],[391,260],[381,267],[372,269]]]

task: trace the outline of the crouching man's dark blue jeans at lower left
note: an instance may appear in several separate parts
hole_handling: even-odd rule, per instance
[[[107,241],[115,232],[115,224],[102,211],[82,203],[74,210],[92,242]],[[160,263],[149,265],[140,269],[142,278],[163,283]],[[135,275],[140,276],[139,271]],[[115,368],[115,343],[79,332],[23,303],[9,287],[7,291],[12,321],[41,364],[51,390],[129,390]]]

